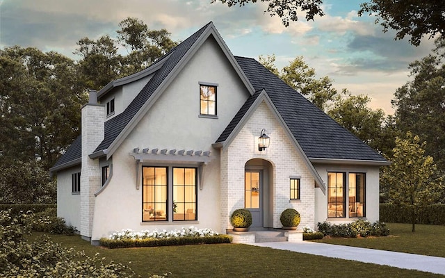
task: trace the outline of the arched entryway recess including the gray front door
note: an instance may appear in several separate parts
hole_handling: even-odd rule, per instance
[[[252,213],[251,229],[273,227],[273,165],[254,158],[245,163],[244,206]]]

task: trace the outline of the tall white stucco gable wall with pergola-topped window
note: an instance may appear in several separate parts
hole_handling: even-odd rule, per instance
[[[218,119],[199,117],[199,82],[218,84]],[[99,240],[121,229],[170,230],[193,225],[225,232],[220,229],[220,158],[219,152],[211,144],[218,139],[248,97],[248,90],[213,38],[204,42],[113,154],[113,177],[96,197],[92,240]],[[142,222],[142,186],[136,189],[136,184],[140,183],[136,178],[137,163],[133,156],[129,156],[135,147],[212,151],[214,158],[205,167],[202,190],[198,181],[197,221]],[[178,164],[165,161],[144,165]],[[179,165],[197,167],[193,163]]]

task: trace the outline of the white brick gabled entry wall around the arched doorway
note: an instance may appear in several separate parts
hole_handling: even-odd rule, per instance
[[[270,136],[270,147],[258,150],[261,129]],[[315,190],[314,177],[307,168],[282,125],[263,102],[245,123],[227,149],[221,150],[221,225],[232,229],[229,215],[237,208],[244,208],[245,163],[252,158],[261,158],[273,165],[272,200],[269,204],[273,228],[281,228],[280,215],[286,208],[295,208],[301,216],[299,229],[314,228]],[[300,177],[300,200],[290,200],[290,178]],[[264,213],[267,213],[266,211]],[[264,223],[267,224],[267,223]]]

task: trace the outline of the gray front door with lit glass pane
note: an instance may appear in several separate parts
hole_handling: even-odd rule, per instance
[[[252,213],[252,226],[263,227],[261,170],[245,170],[244,206]]]

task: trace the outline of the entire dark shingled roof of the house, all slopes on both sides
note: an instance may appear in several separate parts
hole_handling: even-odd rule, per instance
[[[172,72],[179,61],[186,55],[193,44],[200,38],[200,35],[211,24],[203,26],[199,31],[191,35],[160,58],[164,64],[154,73],[152,79],[144,86],[138,95],[131,101],[129,106],[120,115],[116,115],[105,122],[104,140],[95,149],[100,152],[110,147],[113,141],[119,136],[122,130],[129,124],[134,115],[153,95],[159,85]],[[262,90],[270,97],[282,116],[284,122],[293,133],[303,151],[309,158],[334,158],[385,161],[371,147],[353,136],[352,133],[343,129],[337,122],[332,120],[323,111],[314,106],[305,97],[286,85],[281,79],[269,72],[265,67],[252,58],[235,57],[241,69],[252,83],[255,93],[245,101],[238,113],[229,123],[225,131],[216,142],[225,141],[230,133]],[[154,63],[153,65],[155,65]],[[76,138],[67,152],[59,158],[53,169],[63,167],[67,163],[73,163],[81,158],[81,136]]]

